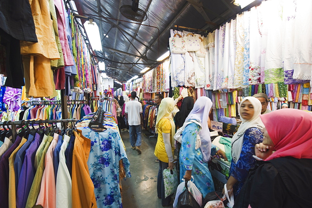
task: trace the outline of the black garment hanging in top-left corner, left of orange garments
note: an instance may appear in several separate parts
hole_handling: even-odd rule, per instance
[[[0,20],[0,28],[13,38],[38,42],[28,0],[1,0]]]

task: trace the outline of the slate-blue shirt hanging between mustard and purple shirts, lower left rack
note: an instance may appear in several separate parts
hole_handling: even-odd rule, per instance
[[[30,144],[34,141],[34,139],[35,139],[34,136],[29,134],[27,142],[25,142],[25,144],[23,144],[23,146],[18,150],[18,152],[16,154],[16,157],[14,160],[15,186],[16,186],[16,188],[17,188],[19,177],[21,175],[21,170],[22,170],[26,150],[28,149]]]

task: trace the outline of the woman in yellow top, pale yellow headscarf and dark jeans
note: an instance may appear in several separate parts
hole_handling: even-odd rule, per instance
[[[165,198],[165,186],[163,182],[163,170],[173,169],[173,152],[174,152],[174,133],[175,125],[173,122],[172,111],[176,102],[173,98],[162,99],[156,120],[156,129],[158,130],[158,138],[155,147],[155,156],[159,161],[159,170],[157,177],[157,196],[161,198],[161,204],[168,206],[171,197]]]

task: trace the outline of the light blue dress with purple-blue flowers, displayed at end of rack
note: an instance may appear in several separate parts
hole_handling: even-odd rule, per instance
[[[131,177],[129,160],[119,133],[107,128],[103,132],[80,127],[82,135],[91,139],[88,168],[94,184],[97,207],[122,207],[119,188],[119,160],[122,159],[126,177]]]

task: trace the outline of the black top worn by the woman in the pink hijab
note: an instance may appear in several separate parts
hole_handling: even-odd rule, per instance
[[[234,207],[310,207],[312,159],[281,157],[257,162]]]

